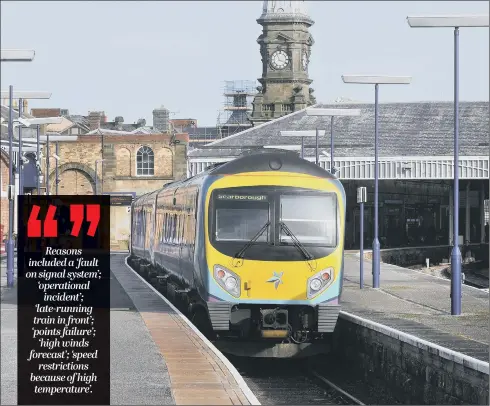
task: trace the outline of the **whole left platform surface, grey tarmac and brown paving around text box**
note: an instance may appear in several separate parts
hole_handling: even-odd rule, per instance
[[[226,365],[111,255],[111,404],[249,405]],[[5,263],[2,261],[2,271]],[[17,404],[17,289],[1,291],[1,404]]]

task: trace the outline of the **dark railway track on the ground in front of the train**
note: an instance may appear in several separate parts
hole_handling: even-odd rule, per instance
[[[364,405],[302,360],[228,359],[262,405]]]

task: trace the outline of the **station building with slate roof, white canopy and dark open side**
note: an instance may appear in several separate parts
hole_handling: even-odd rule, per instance
[[[374,236],[374,105],[335,103],[317,108],[360,109],[358,117],[336,117],[334,167],[347,195],[346,248],[358,248],[357,188],[365,186],[364,243]],[[453,103],[385,103],[379,106],[379,237],[382,248],[452,244]],[[281,131],[325,130],[319,165],[330,171],[330,118],[306,109],[255,126],[189,152],[188,175],[274,145],[301,145]],[[315,162],[315,139],[305,140],[305,159]],[[460,104],[460,243],[485,241],[489,197],[489,103]],[[485,203],[487,202],[487,203]],[[488,215],[488,214],[487,214]],[[488,230],[488,226],[487,226]],[[487,231],[488,233],[488,231]]]

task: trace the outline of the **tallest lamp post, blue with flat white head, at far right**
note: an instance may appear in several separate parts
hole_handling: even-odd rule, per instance
[[[459,249],[459,28],[489,26],[489,16],[407,17],[412,28],[454,28],[454,215],[451,251],[451,314],[461,314],[461,251]]]

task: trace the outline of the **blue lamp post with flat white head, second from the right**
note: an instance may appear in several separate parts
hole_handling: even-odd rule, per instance
[[[379,288],[380,247],[378,239],[378,88],[380,84],[408,85],[410,76],[343,75],[344,83],[374,85],[374,240],[373,240],[373,288]]]

